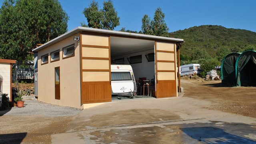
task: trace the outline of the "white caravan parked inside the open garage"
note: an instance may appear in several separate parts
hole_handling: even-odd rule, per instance
[[[131,65],[111,64],[111,94],[136,94],[136,82]]]

